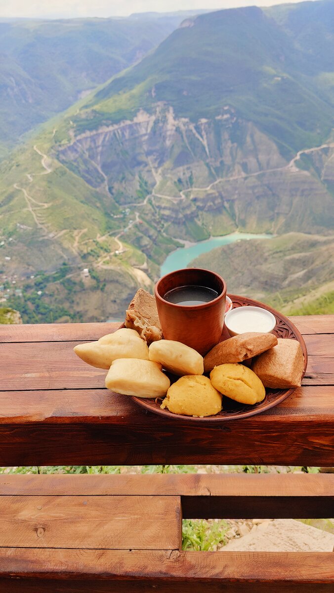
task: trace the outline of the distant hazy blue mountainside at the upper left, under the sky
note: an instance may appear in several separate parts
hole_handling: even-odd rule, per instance
[[[137,62],[182,18],[0,20],[0,144]]]

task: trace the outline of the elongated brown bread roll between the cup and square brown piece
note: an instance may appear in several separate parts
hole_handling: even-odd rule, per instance
[[[218,365],[246,361],[276,344],[276,336],[259,331],[247,331],[247,333],[230,337],[214,346],[205,356],[204,372],[211,372]]]

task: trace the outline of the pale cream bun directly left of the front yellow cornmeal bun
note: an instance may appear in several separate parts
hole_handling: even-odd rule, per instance
[[[107,373],[106,387],[125,396],[164,397],[170,380],[157,362],[117,358]]]

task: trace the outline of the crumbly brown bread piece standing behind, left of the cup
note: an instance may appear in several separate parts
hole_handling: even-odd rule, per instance
[[[136,330],[148,345],[161,340],[161,329],[155,297],[139,288],[125,312],[125,327]]]

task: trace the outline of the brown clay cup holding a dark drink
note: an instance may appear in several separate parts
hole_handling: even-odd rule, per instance
[[[164,299],[179,286],[206,286],[218,297],[201,305],[178,305]],[[204,356],[220,340],[224,325],[226,283],[220,275],[197,267],[170,272],[155,285],[158,315],[166,340],[176,340]]]

